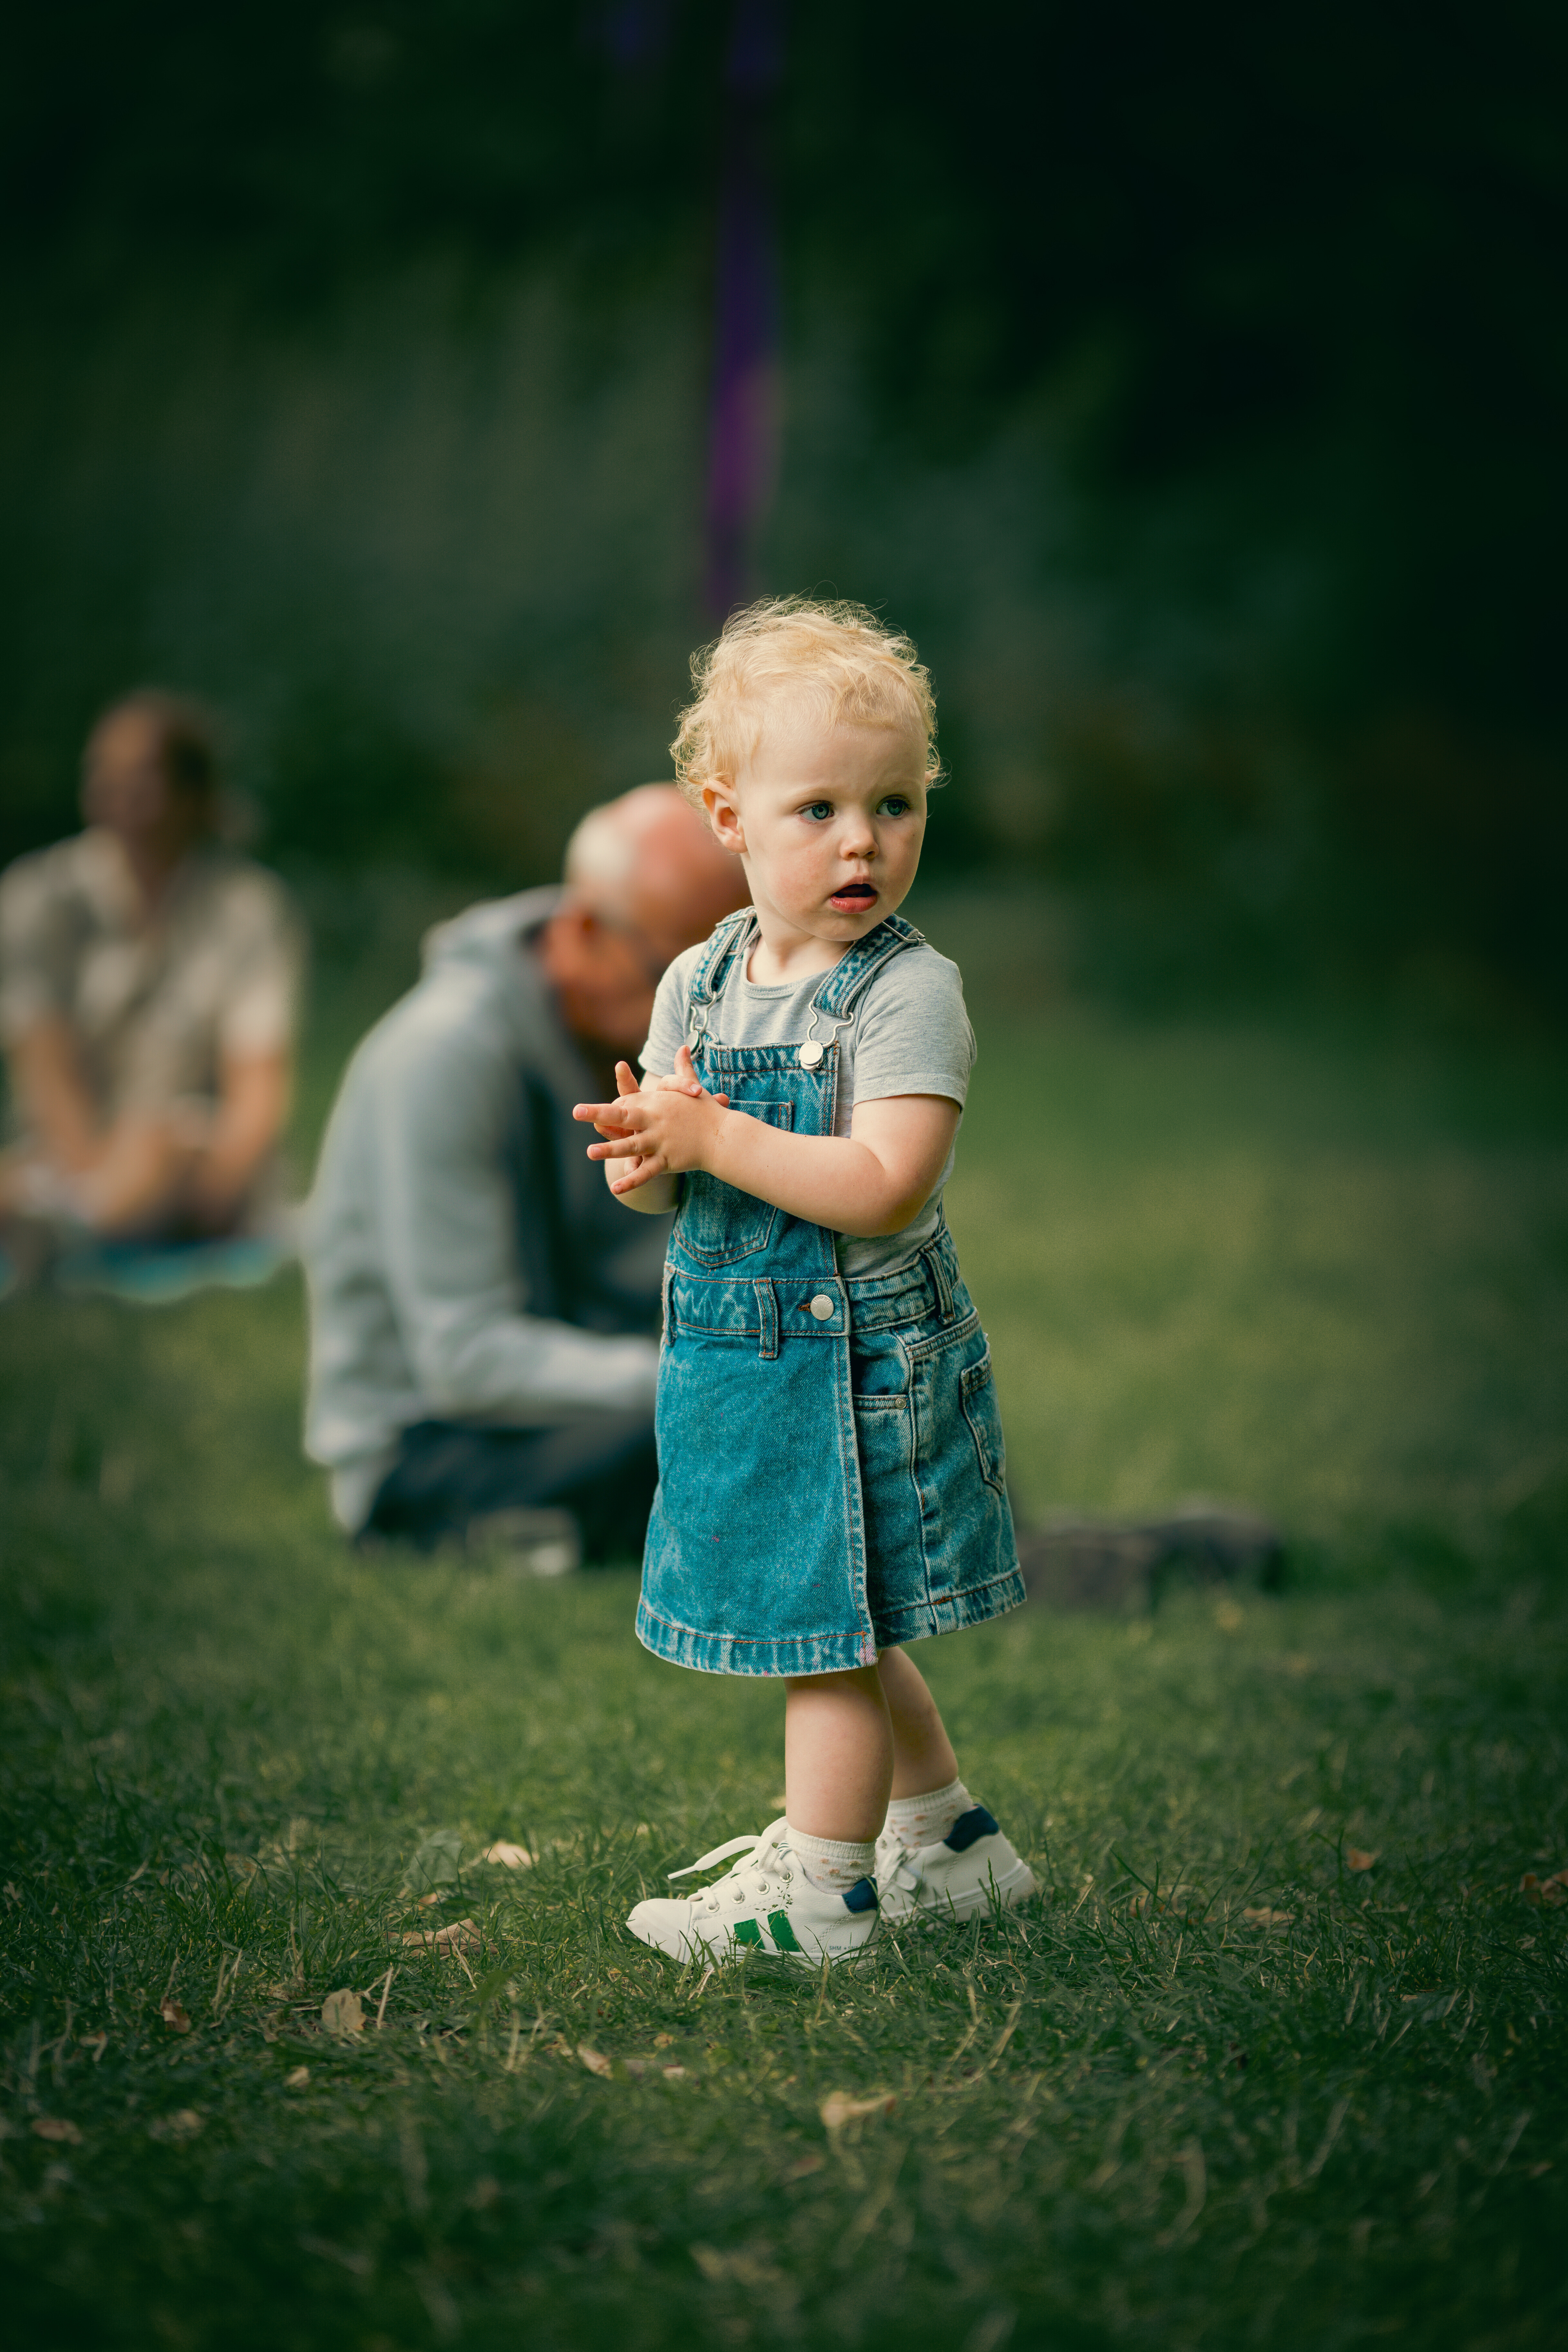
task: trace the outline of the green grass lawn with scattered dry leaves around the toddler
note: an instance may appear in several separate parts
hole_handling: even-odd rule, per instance
[[[621,1936],[776,1811],[778,1693],[646,1658],[630,1571],[348,1555],[292,1279],[0,1312],[19,2340],[1563,2340],[1568,1905],[1519,1891],[1568,1865],[1559,1073],[983,1044],[952,1221],[1020,1505],[1239,1494],[1291,1576],[926,1644],[1044,1898],[825,1983]],[[458,1917],[465,1962],[397,1943]]]

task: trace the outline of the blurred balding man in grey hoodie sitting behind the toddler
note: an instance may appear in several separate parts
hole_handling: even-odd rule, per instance
[[[559,889],[435,929],[360,1044],[306,1221],[306,1451],[348,1534],[494,1536],[541,1571],[642,1552],[665,1232],[611,1200],[571,1105],[614,1094],[665,964],[743,898],[644,783],[583,818]]]

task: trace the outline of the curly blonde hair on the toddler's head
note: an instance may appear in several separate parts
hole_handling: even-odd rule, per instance
[[[693,809],[703,807],[705,783],[733,783],[762,741],[769,703],[783,694],[813,703],[825,727],[907,727],[926,746],[926,786],[943,781],[931,673],[910,637],[884,628],[865,604],[804,595],[748,604],[691,656],[691,684],[670,757]]]

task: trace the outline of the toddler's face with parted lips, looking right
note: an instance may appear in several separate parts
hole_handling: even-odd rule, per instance
[[[926,746],[898,727],[780,713],[731,783],[703,788],[745,863],[764,936],[851,946],[910,891],[926,837]]]

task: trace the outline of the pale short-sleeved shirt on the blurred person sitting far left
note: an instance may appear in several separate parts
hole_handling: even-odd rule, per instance
[[[287,1051],[301,967],[287,889],[223,849],[190,851],[150,922],[96,828],[0,875],[0,1040],[68,1021],[103,1120],[214,1101],[230,1056]]]

